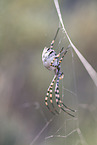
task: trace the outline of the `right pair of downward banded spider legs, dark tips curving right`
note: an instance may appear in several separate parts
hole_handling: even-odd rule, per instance
[[[56,86],[55,86],[55,97],[56,97],[56,103],[58,105],[58,107],[60,109],[62,109],[65,113],[67,113],[68,115],[74,117],[74,115],[72,115],[71,113],[67,112],[63,106],[65,108],[67,108],[68,110],[72,111],[72,112],[75,112],[74,110],[70,109],[69,107],[67,107],[66,105],[64,105],[64,103],[61,101],[60,99],[60,96],[59,96],[59,79],[60,79],[60,76],[58,75],[58,78],[57,78],[57,82],[56,82]]]

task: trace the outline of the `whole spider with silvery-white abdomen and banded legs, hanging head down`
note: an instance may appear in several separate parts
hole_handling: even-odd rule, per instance
[[[49,111],[53,115],[59,114],[59,112],[57,111],[57,109],[54,107],[53,100],[52,100],[52,97],[53,97],[52,96],[52,89],[53,89],[54,83],[56,81],[56,85],[55,85],[55,98],[56,98],[56,103],[57,103],[58,107],[61,110],[63,110],[68,115],[74,117],[74,115],[72,115],[68,111],[75,112],[75,110],[67,107],[63,103],[63,101],[60,99],[60,95],[59,95],[59,80],[61,80],[61,79],[64,78],[64,73],[60,71],[60,65],[61,65],[61,62],[62,62],[65,54],[68,51],[68,48],[69,48],[68,47],[66,50],[64,50],[64,47],[62,47],[61,50],[60,50],[60,52],[58,54],[56,54],[56,52],[54,51],[53,45],[54,45],[55,39],[57,37],[57,34],[59,32],[59,29],[60,28],[57,29],[57,32],[55,34],[54,39],[51,42],[50,47],[45,47],[44,50],[43,50],[43,52],[42,52],[42,62],[43,62],[43,65],[47,69],[49,69],[50,71],[51,70],[54,70],[54,72],[55,72],[55,75],[54,75],[54,77],[53,77],[53,79],[51,81],[51,84],[50,84],[50,86],[47,89],[47,94],[46,94],[46,97],[45,97],[45,105],[47,106],[47,108],[49,109]],[[62,55],[62,56],[59,59],[60,55]],[[50,99],[50,103],[52,104],[53,111],[49,107],[48,99]]]

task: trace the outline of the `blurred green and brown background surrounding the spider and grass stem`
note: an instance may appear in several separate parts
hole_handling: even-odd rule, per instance
[[[73,43],[97,70],[97,1],[59,0],[59,4]],[[0,0],[0,145],[30,145],[52,118],[45,107],[44,97],[53,72],[44,68],[41,54],[43,48],[50,45],[58,26],[52,0]],[[61,34],[56,40],[56,48],[60,37]],[[65,43],[63,45],[65,47]],[[77,89],[78,103],[72,106],[76,108],[78,105],[79,127],[88,145],[96,145],[97,88],[74,54],[77,84],[74,89],[70,57],[69,52],[63,61],[63,86],[74,92]],[[70,106],[73,100],[67,98],[66,101]],[[63,113],[55,117],[34,144],[66,144],[61,138],[44,141],[62,124]],[[70,129],[70,125],[67,130],[68,127]],[[73,138],[77,144],[79,136]],[[67,139],[67,145],[75,144],[73,141]]]

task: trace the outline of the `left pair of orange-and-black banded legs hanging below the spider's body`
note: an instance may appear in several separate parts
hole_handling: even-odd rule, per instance
[[[53,114],[53,115],[55,115],[55,113],[50,109],[50,107],[49,107],[49,105],[48,105],[48,97],[49,97],[49,95],[50,95],[50,102],[51,102],[51,104],[52,104],[52,107],[54,108],[54,110],[55,110],[55,112],[57,113],[57,114],[59,114],[59,112],[55,109],[55,107],[54,107],[54,104],[53,104],[53,101],[52,101],[52,89],[53,89],[53,85],[54,85],[54,82],[55,82],[55,80],[56,80],[56,75],[54,76],[54,78],[53,78],[53,80],[52,80],[52,82],[51,82],[51,84],[50,84],[50,86],[49,86],[49,88],[48,88],[48,90],[47,90],[47,94],[46,94],[46,97],[45,97],[45,104],[46,104],[46,106],[47,106],[47,108],[49,109],[49,111]]]

